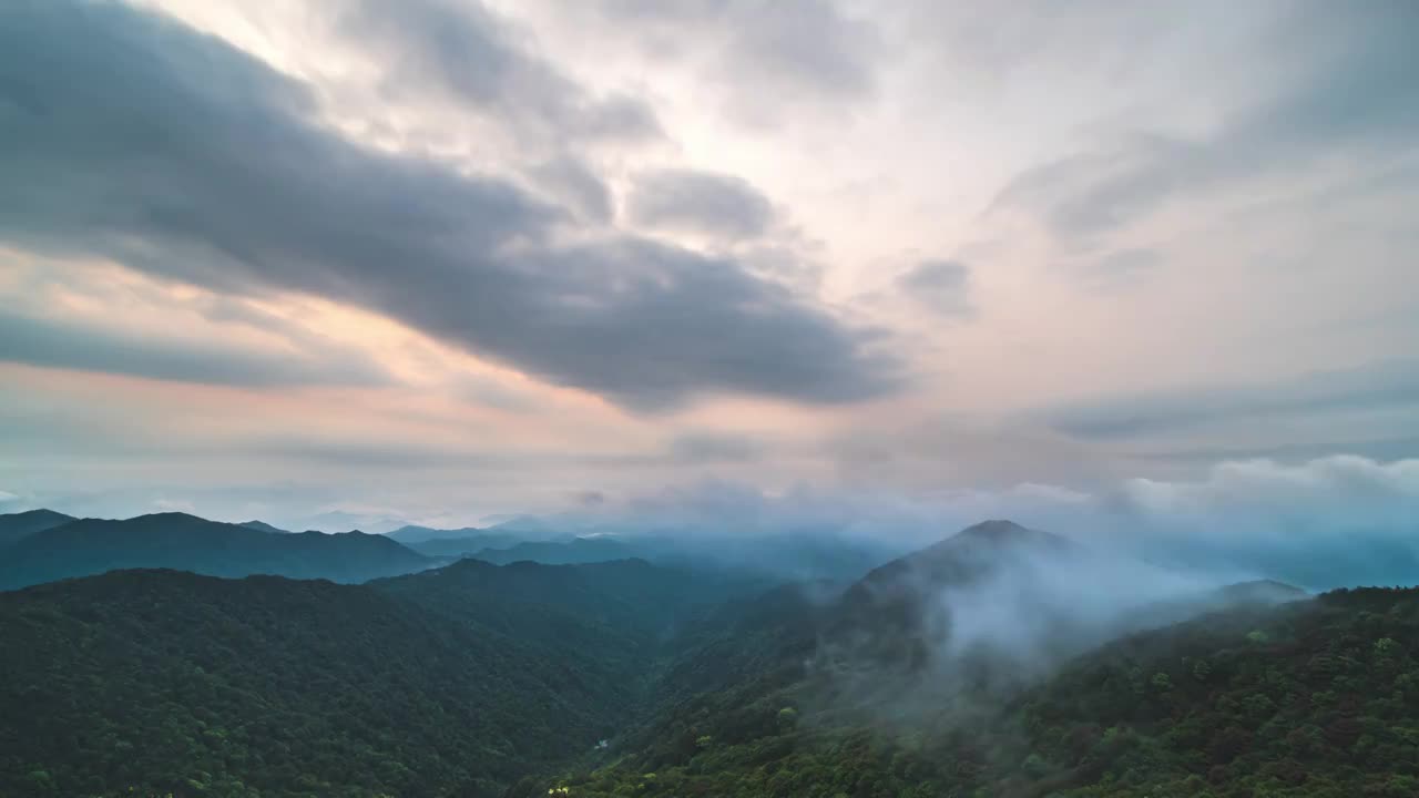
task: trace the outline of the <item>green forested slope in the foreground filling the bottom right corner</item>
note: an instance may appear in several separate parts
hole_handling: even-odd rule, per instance
[[[744,676],[671,704],[599,770],[508,795],[1419,794],[1419,589],[1271,598],[1125,635],[1010,694],[905,699],[934,711],[834,714],[802,680]]]

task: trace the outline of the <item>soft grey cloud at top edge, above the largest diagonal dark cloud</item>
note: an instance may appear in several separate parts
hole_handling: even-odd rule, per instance
[[[630,97],[592,97],[528,51],[508,24],[477,0],[346,0],[341,31],[386,64],[389,95],[444,92],[521,133],[559,141],[658,138],[660,122]]]

